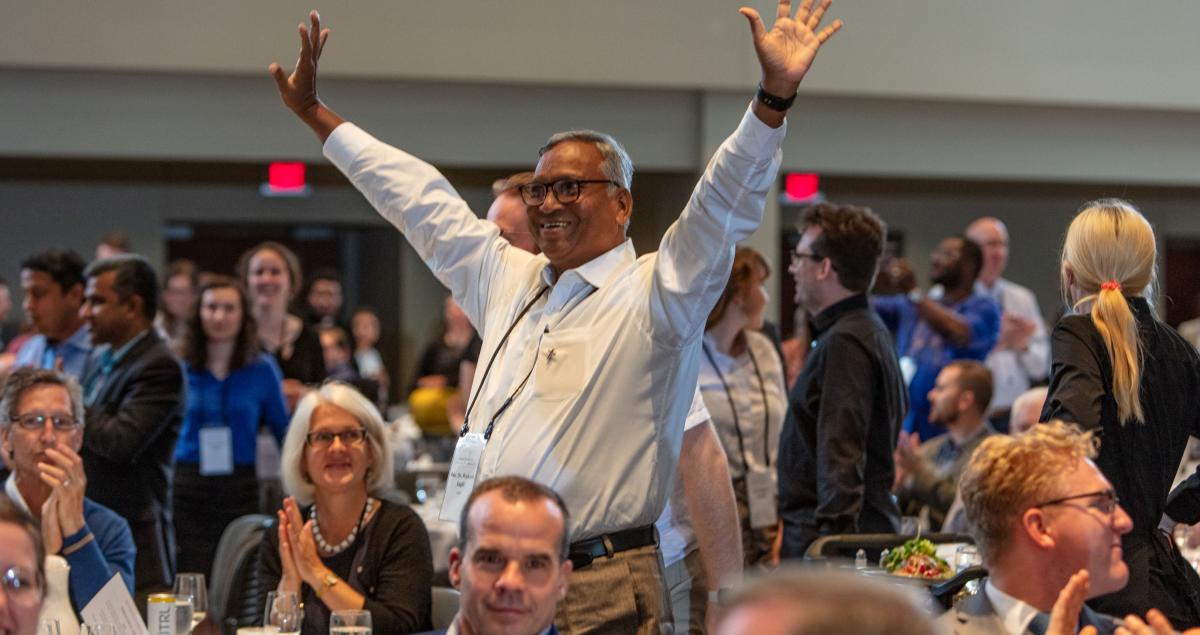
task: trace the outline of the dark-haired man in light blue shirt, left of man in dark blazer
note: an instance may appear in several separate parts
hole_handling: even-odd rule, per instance
[[[22,308],[37,330],[20,351],[17,366],[61,369],[79,379],[91,353],[88,323],[79,314],[84,262],[73,251],[47,251],[20,263]]]

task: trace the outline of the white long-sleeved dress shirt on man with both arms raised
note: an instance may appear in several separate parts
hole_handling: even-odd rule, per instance
[[[432,166],[353,124],[330,134],[325,156],[404,234],[482,334],[470,430],[484,431],[512,397],[478,480],[518,474],[553,489],[571,511],[572,540],[658,519],[696,389],[704,319],[728,280],[734,245],[762,221],[785,128],[748,109],[656,253],[638,258],[626,240],[557,277],[545,256],[512,247],[475,216]],[[539,295],[544,287],[550,292]]]

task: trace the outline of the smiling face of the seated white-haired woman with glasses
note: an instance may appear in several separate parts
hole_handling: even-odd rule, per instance
[[[312,412],[308,433],[346,432],[359,430],[364,425],[348,411],[322,403]],[[317,487],[319,495],[336,495],[359,489],[366,491],[366,473],[371,467],[371,445],[366,439],[359,443],[343,443],[335,438],[329,448],[305,445],[305,472]]]

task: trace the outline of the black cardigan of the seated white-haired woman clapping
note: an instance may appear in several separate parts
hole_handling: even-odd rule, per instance
[[[311,509],[304,510],[306,519]],[[266,531],[259,552],[264,593],[259,606],[266,600],[265,593],[280,585],[282,575],[277,523]],[[371,611],[374,633],[420,633],[432,628],[433,559],[421,517],[408,505],[382,501],[354,549],[353,574],[346,583],[366,598],[362,607]],[[304,583],[300,599],[310,606],[320,601]]]

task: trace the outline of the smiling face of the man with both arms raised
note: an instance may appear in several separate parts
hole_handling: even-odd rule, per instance
[[[600,169],[601,161],[594,143],[563,142],[541,155],[533,180],[548,186],[559,179],[607,179]],[[626,190],[588,184],[580,186],[580,198],[572,203],[564,205],[553,192],[547,192],[546,200],[527,206],[526,214],[534,242],[562,274],[624,242],[632,205]]]

